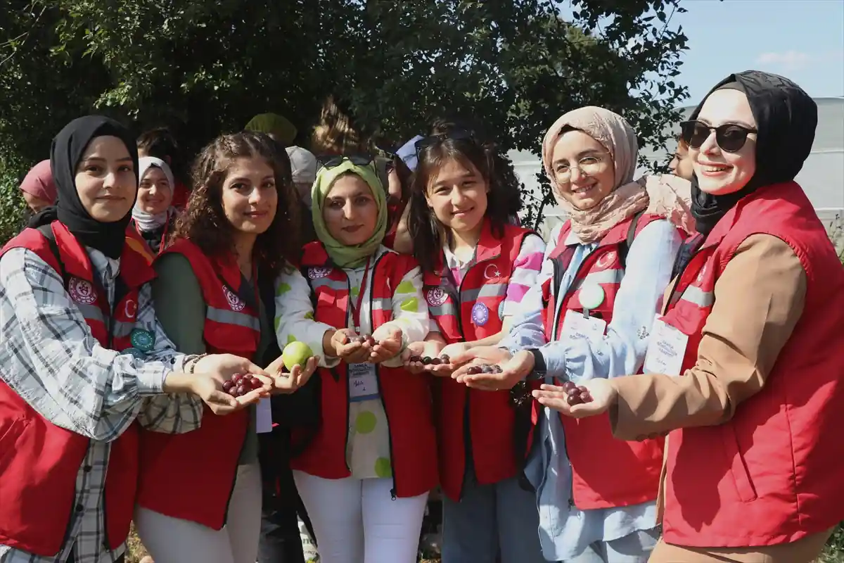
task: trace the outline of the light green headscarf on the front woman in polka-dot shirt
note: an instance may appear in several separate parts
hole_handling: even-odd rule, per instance
[[[334,181],[339,176],[351,172],[366,182],[370,187],[372,196],[375,198],[378,205],[378,221],[376,223],[375,232],[363,244],[355,246],[346,246],[337,241],[332,235],[328,234],[328,228],[325,225],[325,219],[322,218],[322,206],[325,205],[325,198]],[[321,168],[317,172],[317,181],[314,182],[311,188],[311,216],[314,221],[314,229],[317,231],[317,237],[325,246],[328,256],[331,257],[333,263],[340,268],[357,268],[366,262],[366,258],[375,254],[381,241],[384,240],[384,235],[387,233],[387,193],[384,187],[381,186],[381,181],[378,180],[375,169],[372,165],[355,165],[351,160],[344,160],[342,164],[334,166],[333,168]]]

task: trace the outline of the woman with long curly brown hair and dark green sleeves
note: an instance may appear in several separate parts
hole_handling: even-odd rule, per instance
[[[155,263],[155,311],[180,350],[237,353],[279,373],[269,287],[299,252],[289,160],[262,133],[214,140],[194,170],[190,205]],[[271,294],[272,295],[272,294]],[[277,378],[293,392],[317,360]],[[253,563],[261,526],[257,433],[272,429],[267,401],[224,419],[205,414],[190,438],[143,436],[136,522],[155,560]],[[171,479],[173,472],[190,479]]]

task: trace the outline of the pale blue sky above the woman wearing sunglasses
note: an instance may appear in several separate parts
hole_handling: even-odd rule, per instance
[[[782,74],[809,95],[844,95],[844,1],[682,0],[689,50],[679,82],[694,105],[729,73],[750,68]]]

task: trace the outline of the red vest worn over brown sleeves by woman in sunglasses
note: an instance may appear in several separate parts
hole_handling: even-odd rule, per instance
[[[695,365],[713,288],[747,237],[791,246],[806,272],[803,315],[765,387],[715,426],[668,439],[663,534],[670,544],[744,547],[796,541],[844,519],[844,268],[798,184],[761,188],[706,237],[663,321],[687,334]]]

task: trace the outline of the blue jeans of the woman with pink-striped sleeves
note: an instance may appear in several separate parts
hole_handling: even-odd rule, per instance
[[[538,528],[536,497],[518,479],[479,485],[470,468],[461,501],[442,499],[442,563],[545,563]]]

